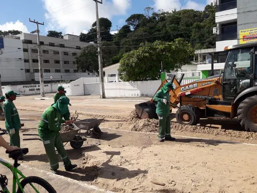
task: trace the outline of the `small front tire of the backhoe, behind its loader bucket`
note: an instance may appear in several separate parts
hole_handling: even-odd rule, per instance
[[[200,119],[200,110],[190,105],[182,106],[177,110],[176,119],[179,124],[197,125]]]

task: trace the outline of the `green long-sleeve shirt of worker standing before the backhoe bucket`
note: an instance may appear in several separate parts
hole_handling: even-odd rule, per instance
[[[167,103],[164,104],[162,102],[162,99],[166,99],[167,100]],[[170,102],[170,93],[167,92],[167,93],[163,93],[162,90],[159,90],[153,100],[155,100],[156,102],[158,102],[157,104],[157,108],[156,108],[156,113],[159,114],[159,115],[169,115],[170,114],[170,105],[169,105],[169,102]]]

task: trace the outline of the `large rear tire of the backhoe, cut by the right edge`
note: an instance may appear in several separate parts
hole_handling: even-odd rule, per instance
[[[247,97],[239,104],[237,118],[246,131],[257,132],[257,95]]]

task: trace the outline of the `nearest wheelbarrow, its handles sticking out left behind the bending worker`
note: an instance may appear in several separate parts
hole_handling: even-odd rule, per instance
[[[65,133],[60,133],[61,137],[62,137],[62,142],[66,143],[64,146],[67,145],[67,143],[69,142],[70,146],[73,149],[79,149],[82,147],[84,141],[86,141],[86,138],[82,138],[80,135],[78,135],[78,132],[80,131],[80,129],[76,126],[75,130],[72,131],[68,131]],[[39,136],[38,134],[23,134],[24,136]],[[25,138],[23,139],[23,141],[29,141],[29,140],[40,140],[40,138]]]

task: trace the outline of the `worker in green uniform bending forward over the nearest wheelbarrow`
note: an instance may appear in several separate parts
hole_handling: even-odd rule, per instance
[[[71,169],[77,167],[77,165],[71,164],[59,133],[62,123],[69,125],[71,122],[65,121],[60,117],[60,115],[63,115],[68,111],[68,105],[71,106],[69,103],[69,98],[66,96],[60,97],[56,103],[53,103],[45,110],[38,127],[39,136],[44,143],[52,173],[56,174],[59,168],[59,160],[55,148],[57,149],[58,154],[61,156],[66,171],[70,171]]]

